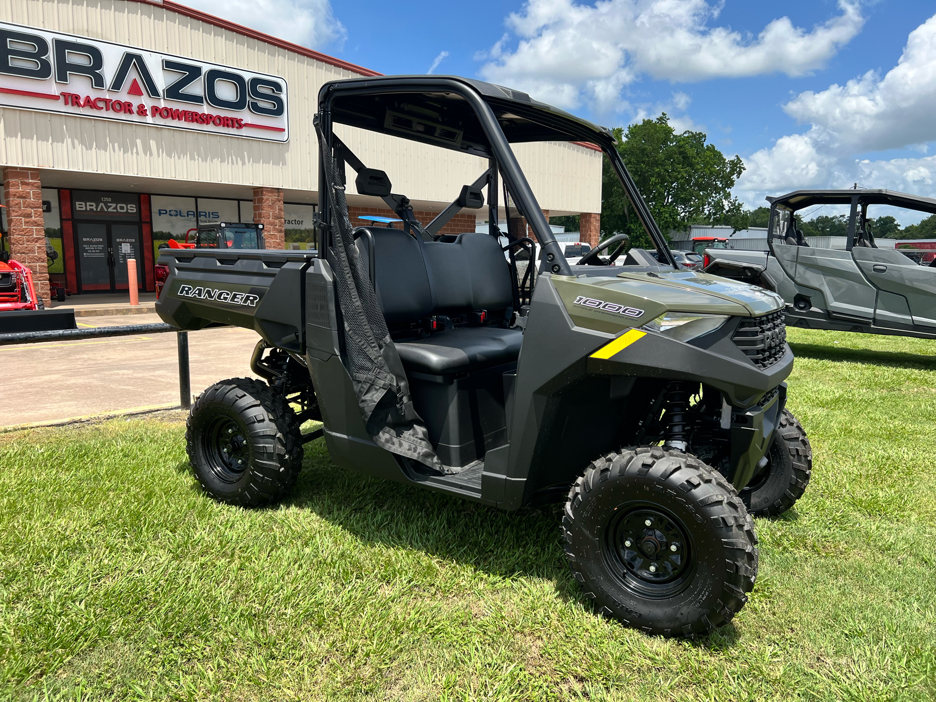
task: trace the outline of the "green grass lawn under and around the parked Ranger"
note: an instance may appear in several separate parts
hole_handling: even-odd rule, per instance
[[[793,329],[812,484],[758,519],[751,601],[644,636],[506,514],[307,447],[293,498],[203,496],[183,424],[0,435],[3,699],[933,699],[936,342]],[[23,401],[20,398],[20,401]]]

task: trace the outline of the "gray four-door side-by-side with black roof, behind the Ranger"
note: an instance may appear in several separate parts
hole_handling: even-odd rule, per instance
[[[936,261],[921,266],[879,248],[873,225],[899,210],[934,214],[936,199],[889,190],[797,190],[768,200],[769,251],[708,249],[707,272],[778,293],[791,327],[936,339]],[[797,228],[796,212],[817,205],[849,208],[844,249],[811,246]]]

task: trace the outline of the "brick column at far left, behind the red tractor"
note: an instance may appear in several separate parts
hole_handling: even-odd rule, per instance
[[[46,225],[42,220],[42,183],[39,171],[6,168],[3,174],[7,200],[7,237],[10,256],[33,271],[36,294],[48,307],[49,271],[46,259]]]

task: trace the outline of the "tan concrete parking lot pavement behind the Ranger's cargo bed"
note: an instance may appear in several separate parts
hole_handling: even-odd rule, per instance
[[[77,321],[79,329],[88,329],[162,320],[156,314],[134,314]],[[224,378],[254,376],[250,355],[258,338],[250,329],[190,331],[192,393]],[[179,404],[173,332],[0,346],[0,367],[11,380],[30,381],[22,392],[9,396],[4,426]]]

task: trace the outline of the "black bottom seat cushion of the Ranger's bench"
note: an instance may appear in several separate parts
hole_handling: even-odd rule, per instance
[[[515,361],[522,341],[519,329],[459,327],[396,346],[407,371],[438,375]]]

